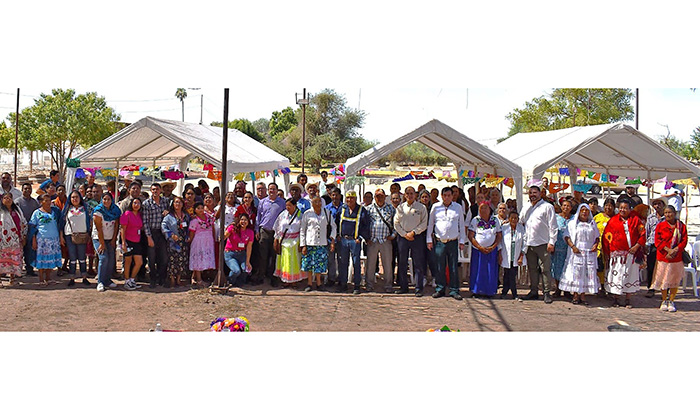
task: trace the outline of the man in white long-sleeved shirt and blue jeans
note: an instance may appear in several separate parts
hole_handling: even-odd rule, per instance
[[[436,287],[434,298],[445,296],[447,279],[445,278],[445,267],[450,270],[450,296],[457,300],[462,300],[459,294],[459,275],[457,274],[457,263],[459,261],[459,251],[464,249],[467,235],[464,228],[463,210],[460,204],[452,201],[452,189],[445,187],[442,189],[442,203],[435,203],[430,210],[428,219],[428,235],[426,242],[428,249],[435,252]],[[417,287],[417,286],[416,286]],[[418,295],[418,292],[416,292]]]

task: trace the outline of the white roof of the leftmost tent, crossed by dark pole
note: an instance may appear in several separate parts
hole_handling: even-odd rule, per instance
[[[92,146],[77,158],[82,166],[164,166],[199,156],[222,168],[222,137],[221,127],[146,117]],[[286,157],[238,130],[228,130],[228,174],[272,171],[288,166]]]

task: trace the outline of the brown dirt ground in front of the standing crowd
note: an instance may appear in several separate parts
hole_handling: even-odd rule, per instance
[[[226,295],[189,287],[137,291],[121,286],[104,293],[78,282],[41,288],[36,277],[0,289],[0,331],[148,331],[160,323],[165,330],[207,331],[220,316],[245,316],[251,331],[426,331],[448,325],[461,331],[607,331],[626,323],[641,331],[700,331],[700,300],[692,291],[679,292],[678,312],[661,312],[660,295],[648,299],[640,291],[633,308],[613,308],[606,298],[589,297],[591,306],[572,305],[555,298],[539,301],[469,298],[462,301],[412,293],[359,296],[331,291],[234,288]],[[526,294],[525,288],[520,294]],[[40,326],[37,320],[41,320]]]

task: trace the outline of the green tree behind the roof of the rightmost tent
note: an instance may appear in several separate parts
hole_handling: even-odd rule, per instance
[[[631,89],[554,89],[506,116],[508,136],[630,120],[632,98]]]

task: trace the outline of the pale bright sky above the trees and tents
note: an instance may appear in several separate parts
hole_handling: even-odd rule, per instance
[[[525,102],[544,95],[549,88],[359,88],[308,86],[310,94],[326,87],[345,95],[348,105],[360,107],[367,113],[361,133],[369,140],[393,140],[430,119],[437,118],[458,131],[487,144],[507,135],[506,115]],[[22,88],[20,108],[33,103],[34,97],[49,92],[51,87]],[[145,116],[181,120],[180,102],[175,98],[176,87],[130,88],[122,86],[76,86],[78,92],[96,91],[122,116],[122,121],[134,122]],[[273,111],[287,106],[296,107],[295,88],[260,88],[257,86],[231,89],[229,118],[269,118]],[[634,89],[634,88],[632,88]],[[6,119],[14,110],[16,88],[0,87],[0,116]],[[185,120],[200,121],[201,95],[203,121],[208,124],[223,119],[223,88],[188,90],[185,100]],[[688,140],[695,127],[700,126],[700,90],[690,88],[640,89],[640,130],[656,138],[671,133]],[[634,126],[634,121],[630,122]]]

